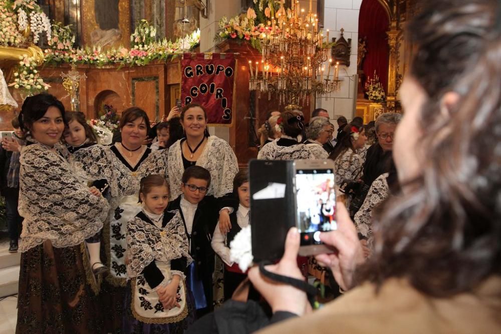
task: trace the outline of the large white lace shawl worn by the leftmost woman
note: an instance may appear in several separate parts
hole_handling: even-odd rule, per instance
[[[68,150],[34,143],[20,158],[19,213],[25,218],[20,251],[51,240],[70,247],[96,234],[108,215],[109,204],[82,185],[66,160]]]

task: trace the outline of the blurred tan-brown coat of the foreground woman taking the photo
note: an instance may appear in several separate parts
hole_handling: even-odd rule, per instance
[[[259,333],[501,333],[501,277],[451,298],[426,296],[404,279],[389,279],[378,294],[366,283]]]

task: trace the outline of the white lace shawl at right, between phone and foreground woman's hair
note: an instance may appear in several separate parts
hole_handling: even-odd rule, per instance
[[[355,214],[357,230],[365,237],[372,235],[372,210],[390,195],[387,177],[388,173],[385,173],[372,182],[364,203]]]

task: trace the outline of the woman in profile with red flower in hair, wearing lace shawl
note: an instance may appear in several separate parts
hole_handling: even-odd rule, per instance
[[[356,152],[362,148],[367,140],[364,127],[358,127],[353,123],[348,124],[344,130],[346,136],[341,139],[329,159],[334,160],[336,169],[336,189],[344,180],[357,181],[361,177],[363,161]]]

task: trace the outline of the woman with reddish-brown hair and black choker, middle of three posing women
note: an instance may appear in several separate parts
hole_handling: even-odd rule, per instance
[[[78,170],[85,171],[91,180],[106,179],[110,184],[111,210],[102,234],[103,260],[110,274],[102,282],[100,293],[105,305],[105,326],[109,332],[119,331],[124,315],[127,274],[125,229],[127,222],[141,211],[137,201],[139,181],[142,176],[152,173],[165,175],[161,155],[155,155],[143,145],[149,129],[147,114],[138,107],[131,107],[122,113],[120,119],[121,142],[111,146],[93,145],[73,154]]]

